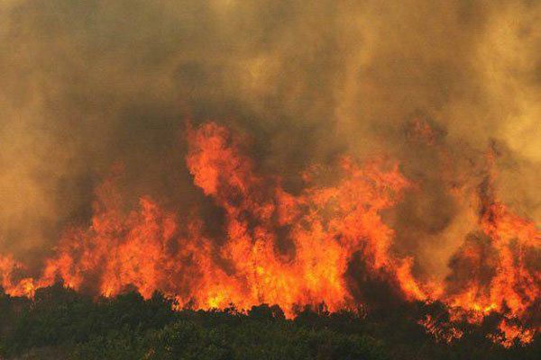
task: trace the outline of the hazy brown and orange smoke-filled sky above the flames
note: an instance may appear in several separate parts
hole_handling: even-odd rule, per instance
[[[49,251],[117,164],[129,201],[206,206],[189,118],[245,134],[292,193],[312,164],[396,159],[416,184],[385,217],[396,250],[444,276],[490,148],[498,195],[541,220],[540,23],[536,1],[5,1],[1,247]]]

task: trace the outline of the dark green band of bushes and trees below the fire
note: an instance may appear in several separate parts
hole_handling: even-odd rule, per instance
[[[329,313],[300,309],[287,320],[278,306],[241,313],[174,311],[160,293],[92,298],[61,284],[34,299],[0,293],[0,356],[5,359],[540,359],[541,338],[503,348],[486,335],[498,319],[462,324],[451,344],[426,334],[417,320],[445,321],[441,304],[404,303],[392,309]]]

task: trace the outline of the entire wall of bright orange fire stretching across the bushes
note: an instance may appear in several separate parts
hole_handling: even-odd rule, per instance
[[[416,122],[415,130],[434,144],[436,135],[425,123]],[[319,171],[336,169],[313,166],[303,174],[304,190],[293,194],[280,176],[258,172],[243,153],[244,139],[224,127],[188,125],[187,139],[194,184],[224,211],[221,238],[206,235],[208,219],[197,211],[181,219],[150,197],[125,211],[113,176],[96,189],[91,225],[65,231],[40,277],[24,277],[22,264],[0,258],[5,292],[32,296],[61,279],[105,296],[130,287],[147,298],[160,291],[181,307],[278,304],[290,316],[299,305],[354,309],[360,300],[348,269],[360,262],[363,276],[391,284],[405,300],[444,302],[452,320],[481,322],[499,312],[503,335],[494,339],[503,345],[531,341],[539,329],[521,324],[539,302],[541,235],[533,221],[491,193],[492,175],[478,196],[478,232],[455,254],[445,281],[429,284],[414,274],[415,257],[395,254],[394,230],[381,217],[413,185],[398,164],[344,157],[339,180],[317,184]],[[452,325],[438,328],[432,318],[420,323],[444,341],[462,336]]]

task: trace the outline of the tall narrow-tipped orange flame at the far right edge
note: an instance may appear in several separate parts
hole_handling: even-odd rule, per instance
[[[536,311],[541,294],[539,251],[541,232],[532,220],[519,217],[493,194],[493,154],[489,154],[488,175],[480,186],[481,215],[479,225],[482,243],[463,247],[458,254],[467,260],[471,279],[458,293],[447,295],[446,302],[454,307],[454,320],[465,317],[480,323],[491,312],[503,314],[502,335],[492,336],[504,347],[513,341],[528,343],[540,328],[539,324],[524,326]],[[490,276],[480,275],[491,270]],[[481,280],[482,277],[488,279]]]

